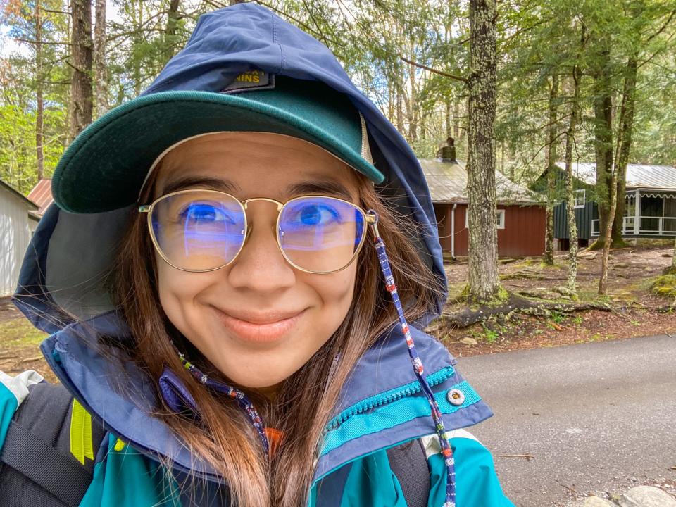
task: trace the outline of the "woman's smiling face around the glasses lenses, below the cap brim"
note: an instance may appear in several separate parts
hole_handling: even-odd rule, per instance
[[[154,199],[180,181],[181,189],[223,190],[240,201],[322,194],[358,204],[353,169],[318,146],[278,134],[191,139],[164,156],[157,176]],[[224,268],[186,272],[155,255],[169,320],[230,380],[260,389],[299,370],[337,330],[352,301],[357,263],[328,275],[297,270],[277,246],[275,204],[254,201],[246,213],[251,234]]]

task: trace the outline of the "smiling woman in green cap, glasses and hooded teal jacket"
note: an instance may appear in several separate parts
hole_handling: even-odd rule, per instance
[[[106,430],[80,506],[511,506],[420,331],[446,295],[420,167],[315,39],[202,16],[52,189],[15,303]]]

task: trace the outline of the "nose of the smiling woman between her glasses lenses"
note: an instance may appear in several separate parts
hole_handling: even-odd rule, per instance
[[[276,216],[257,206],[256,213],[247,213],[248,230],[242,251],[227,271],[232,287],[248,288],[272,294],[292,287],[296,273],[277,244]]]

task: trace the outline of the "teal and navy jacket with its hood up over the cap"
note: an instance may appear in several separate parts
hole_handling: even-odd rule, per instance
[[[208,13],[199,19],[187,46],[144,94],[171,90],[218,93],[237,75],[252,69],[296,80],[318,80],[349,97],[363,116],[373,161],[386,178],[380,191],[390,206],[414,220],[416,227],[408,231],[413,234],[409,239],[446,287],[437,221],[417,158],[401,134],[354,86],[331,52],[310,35],[253,3]],[[111,114],[115,113],[111,111],[96,123],[109,121]],[[87,130],[80,135],[80,141],[69,149],[82,145]],[[162,147],[146,146],[146,150],[154,158]],[[153,150],[157,153],[151,153]],[[146,168],[139,171],[145,173]],[[111,305],[105,277],[101,276],[111,267],[132,213],[137,213],[136,203],[90,214],[67,213],[56,204],[49,206],[26,252],[13,301],[32,323],[49,334],[41,345],[42,352],[80,407],[81,430],[80,434],[71,432],[71,451],[74,459],[95,463],[94,480],[82,507],[187,507],[189,495],[177,489],[181,477],[204,477],[206,494],[196,495],[203,499],[213,498],[212,493],[221,486],[220,477],[151,415],[160,403],[154,380],[129,358],[120,356],[125,347],[115,344],[129,340],[130,333]],[[456,370],[456,361],[446,348],[421,331],[441,313],[445,299],[446,294],[440,294],[427,315],[410,323],[410,328],[425,378],[451,437],[456,504],[511,506],[501,492],[489,451],[463,430],[489,418],[490,409]],[[428,505],[442,507],[444,503],[446,475],[430,404],[413,371],[403,332],[393,324],[360,358],[342,388],[320,443],[322,451],[308,492],[310,507],[406,506],[387,449],[414,439],[421,439],[426,449]],[[89,346],[100,342],[102,336],[109,347],[106,354]],[[119,361],[111,361],[115,357]],[[120,368],[128,385],[134,387],[133,399],[116,389]],[[24,373],[2,380],[0,445],[8,421],[25,400],[26,384],[37,377]],[[91,420],[102,423],[108,431],[100,449],[87,446],[87,424]],[[173,463],[171,474],[159,465],[163,457]]]

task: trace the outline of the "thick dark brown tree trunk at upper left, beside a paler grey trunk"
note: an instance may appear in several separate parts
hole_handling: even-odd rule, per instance
[[[92,3],[73,0],[73,78],[70,84],[70,139],[92,123]]]

